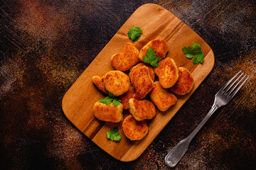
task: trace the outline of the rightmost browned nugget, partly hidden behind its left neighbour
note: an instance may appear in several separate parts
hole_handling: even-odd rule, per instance
[[[178,67],[178,81],[170,90],[174,94],[185,95],[191,91],[193,84],[194,81],[191,72],[184,67]]]

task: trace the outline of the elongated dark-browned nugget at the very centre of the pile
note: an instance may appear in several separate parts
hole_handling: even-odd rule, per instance
[[[153,88],[153,80],[149,75],[149,68],[146,66],[135,67],[129,77],[135,89],[134,98],[137,100],[144,98]]]

